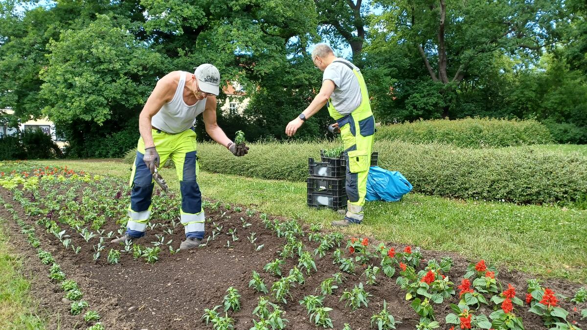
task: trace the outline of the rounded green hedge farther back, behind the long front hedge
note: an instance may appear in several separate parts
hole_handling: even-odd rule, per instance
[[[419,120],[377,128],[377,140],[446,143],[458,147],[509,147],[552,143],[548,128],[536,120],[467,118]]]

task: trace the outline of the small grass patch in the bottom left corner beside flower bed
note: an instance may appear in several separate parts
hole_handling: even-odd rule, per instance
[[[31,282],[22,274],[22,258],[11,250],[4,225],[0,219],[0,329],[45,329],[35,314]]]

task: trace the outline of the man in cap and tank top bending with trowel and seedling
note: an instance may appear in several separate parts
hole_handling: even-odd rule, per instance
[[[151,215],[153,173],[160,163],[171,157],[180,180],[181,224],[185,241],[180,250],[198,247],[204,238],[204,210],[196,178],[200,167],[196,157],[195,117],[203,113],[206,132],[235,156],[244,156],[246,149],[237,149],[216,123],[216,96],[220,72],[211,64],[195,68],[194,73],[174,71],[157,82],[139,115],[141,137],[137,156],[130,174],[129,221],[126,233],[112,243],[119,244],[143,237]]]

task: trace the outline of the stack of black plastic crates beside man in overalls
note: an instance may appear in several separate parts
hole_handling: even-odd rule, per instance
[[[322,161],[308,159],[308,206],[339,210],[346,207],[346,153],[338,158],[324,156]],[[377,153],[371,154],[371,166],[377,165]]]

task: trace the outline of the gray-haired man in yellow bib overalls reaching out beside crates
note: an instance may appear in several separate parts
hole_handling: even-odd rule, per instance
[[[336,120],[335,127],[340,129],[346,150],[346,194],[349,198],[345,218],[333,221],[332,225],[360,224],[375,134],[369,92],[359,68],[348,60],[336,58],[328,45],[316,45],[312,61],[324,72],[322,87],[299,117],[288,123],[285,133],[293,136],[303,122],[328,104],[328,112]]]

